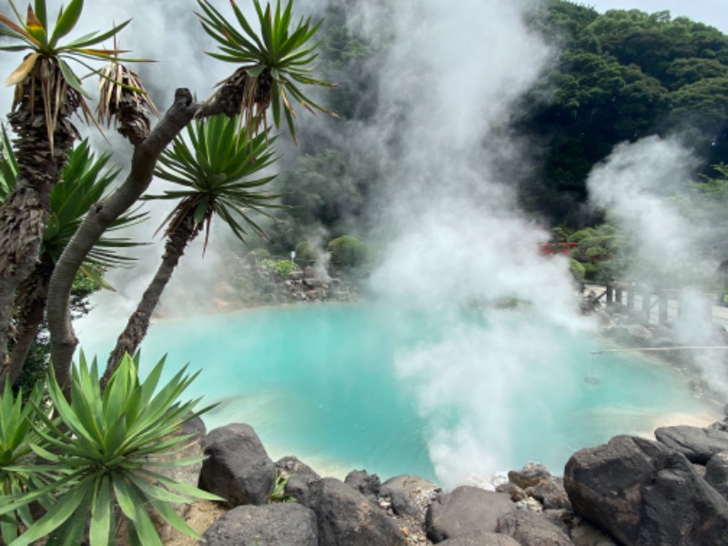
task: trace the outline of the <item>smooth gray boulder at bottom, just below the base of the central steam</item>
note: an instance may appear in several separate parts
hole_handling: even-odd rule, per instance
[[[432,501],[425,519],[427,536],[440,542],[477,531],[493,532],[498,518],[515,510],[507,495],[463,485]]]

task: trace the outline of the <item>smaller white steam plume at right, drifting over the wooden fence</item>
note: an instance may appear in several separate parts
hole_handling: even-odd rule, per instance
[[[634,144],[615,147],[588,180],[591,203],[609,213],[632,245],[632,279],[653,288],[679,288],[681,317],[674,321],[678,339],[686,346],[723,346],[724,333],[714,328],[708,288],[723,288],[716,275],[719,261],[715,241],[724,238],[724,223],[710,214],[707,201],[698,196],[701,214],[687,217],[674,196],[699,165],[691,152],[675,138],[651,136]],[[714,209],[714,207],[713,207]],[[706,286],[715,283],[715,286]],[[728,396],[725,352],[710,350],[693,354],[703,377],[713,389]]]

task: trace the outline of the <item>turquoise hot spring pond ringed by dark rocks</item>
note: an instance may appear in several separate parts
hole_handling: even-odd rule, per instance
[[[97,350],[100,358],[107,349]],[[545,327],[518,311],[445,319],[365,306],[262,308],[157,321],[147,370],[168,353],[202,373],[189,398],[219,402],[208,430],[246,422],[271,457],[294,454],[320,473],[521,468],[554,473],[575,450],[645,433],[665,413],[704,413],[687,379],[634,353]],[[600,379],[598,384],[586,376]],[[468,468],[466,468],[468,467]]]

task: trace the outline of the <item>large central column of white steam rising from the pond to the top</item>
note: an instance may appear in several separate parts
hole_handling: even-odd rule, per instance
[[[380,25],[372,10],[361,20]],[[356,143],[376,150],[387,173],[378,201],[386,244],[372,288],[444,324],[443,341],[402,351],[396,366],[430,423],[430,460],[448,487],[508,468],[499,454],[508,452],[518,385],[534,361],[561,377],[559,348],[546,349],[554,324],[583,324],[567,260],[540,256],[548,236],[517,210],[513,177],[528,150],[504,130],[551,52],[510,2],[429,0],[389,11],[379,116]],[[506,298],[530,304],[490,311],[487,326],[458,319],[464,306]],[[442,417],[453,410],[457,418]]]

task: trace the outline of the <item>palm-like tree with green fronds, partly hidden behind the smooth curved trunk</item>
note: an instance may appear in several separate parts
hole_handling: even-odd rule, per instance
[[[17,183],[18,166],[10,147],[10,139],[2,130],[0,135],[0,201],[5,199]],[[104,196],[118,175],[118,169],[106,168],[109,156],[95,157],[86,140],[69,155],[68,165],[59,184],[50,197],[50,215],[43,233],[40,255],[31,274],[20,284],[15,296],[14,346],[7,366],[0,365],[0,384],[9,378],[15,382],[23,370],[28,351],[44,319],[48,283],[58,258],[68,241],[76,233],[88,209]],[[111,231],[141,222],[146,214],[136,212],[120,217]],[[136,246],[127,238],[101,238],[86,257],[80,273],[101,286],[108,285],[99,271],[123,266],[132,258],[117,253],[119,248]]]

